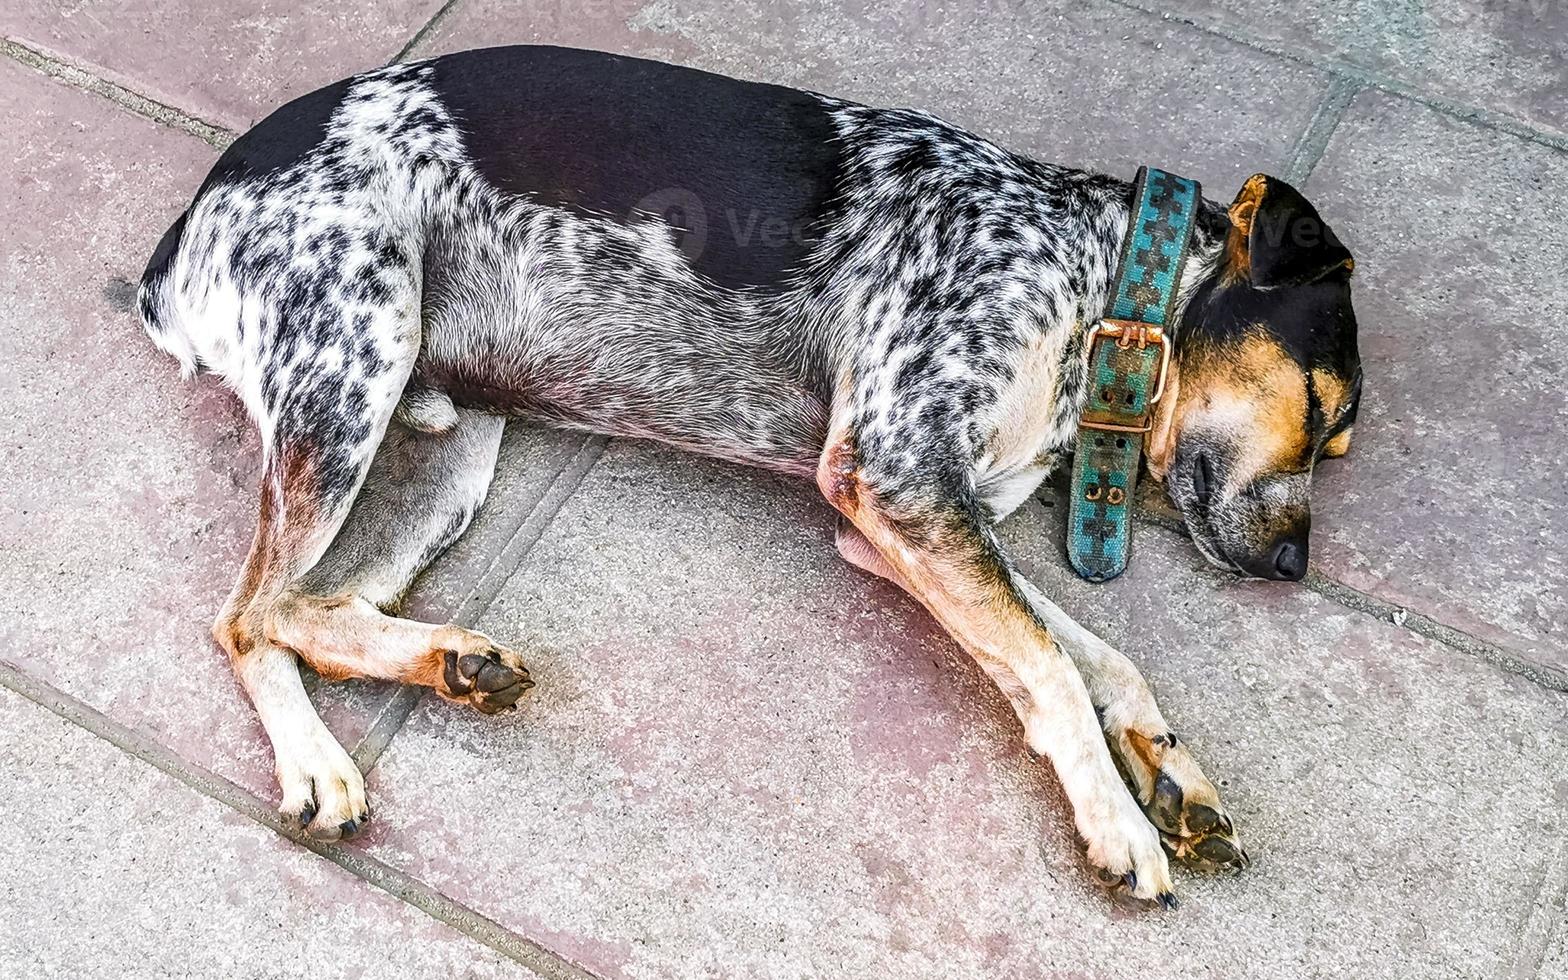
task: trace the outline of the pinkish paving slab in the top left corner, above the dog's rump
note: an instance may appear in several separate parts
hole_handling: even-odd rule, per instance
[[[384,64],[441,0],[6,0],[0,34],[235,130]]]

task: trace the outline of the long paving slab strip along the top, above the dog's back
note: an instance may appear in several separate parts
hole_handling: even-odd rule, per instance
[[[582,44],[933,111],[1016,152],[1132,176],[1157,163],[1229,199],[1281,172],[1328,80],[1113,5],[894,0],[464,3],[416,55]]]

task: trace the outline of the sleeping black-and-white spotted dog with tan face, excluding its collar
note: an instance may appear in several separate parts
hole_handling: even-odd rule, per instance
[[[1245,864],[1138,671],[993,533],[1073,444],[1131,193],[925,113],[550,47],[372,71],[267,118],[140,307],[260,426],[256,543],[213,632],[284,814],[326,839],[368,818],[296,657],[483,712],[532,687],[492,640],[383,612],[522,416],[814,477],[844,557],[1007,693],[1107,883],[1171,905],[1167,850]],[[1148,453],[1221,566],[1305,571],[1312,466],[1356,412],[1350,268],[1279,180],[1203,205]]]

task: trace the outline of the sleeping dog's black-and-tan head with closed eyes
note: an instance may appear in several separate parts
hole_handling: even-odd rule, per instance
[[[1256,174],[1225,257],[1193,295],[1149,433],[1198,549],[1261,579],[1306,574],[1308,491],[1342,456],[1361,400],[1350,252],[1297,190]]]

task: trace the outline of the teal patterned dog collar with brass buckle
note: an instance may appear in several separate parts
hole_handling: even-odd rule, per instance
[[[1143,436],[1165,394],[1165,328],[1200,201],[1195,180],[1138,168],[1105,318],[1088,332],[1088,401],[1073,456],[1068,560],[1090,582],[1109,582],[1127,568]]]

